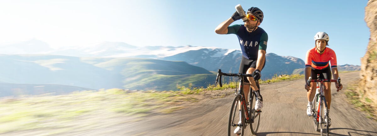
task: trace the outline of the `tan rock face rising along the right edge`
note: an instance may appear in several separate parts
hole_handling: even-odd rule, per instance
[[[365,7],[365,22],[370,29],[368,47],[361,58],[361,87],[364,97],[377,105],[377,0],[369,0]]]

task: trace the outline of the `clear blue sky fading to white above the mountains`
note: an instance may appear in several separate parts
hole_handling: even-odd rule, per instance
[[[264,12],[267,53],[304,60],[314,34],[329,34],[338,64],[360,65],[370,32],[368,0],[12,0],[0,2],[0,43],[35,38],[53,47],[101,41],[134,46],[207,46],[239,49],[236,35],[215,28],[241,4]],[[241,20],[233,24],[243,24]]]

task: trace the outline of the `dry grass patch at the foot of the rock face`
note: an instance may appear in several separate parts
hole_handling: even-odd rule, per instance
[[[345,95],[350,104],[354,105],[355,108],[365,112],[367,114],[366,118],[373,119],[377,121],[377,111],[376,105],[373,105],[373,101],[369,98],[363,97],[362,92],[359,89],[360,80],[348,84],[345,88]]]

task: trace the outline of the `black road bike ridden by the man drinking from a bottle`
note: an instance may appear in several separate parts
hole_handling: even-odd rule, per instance
[[[241,133],[237,135],[244,135],[245,127],[250,124],[251,133],[256,134],[259,128],[259,121],[261,118],[261,110],[255,110],[254,104],[257,100],[256,92],[250,89],[249,93],[249,101],[246,102],[245,94],[244,94],[244,77],[252,77],[253,74],[242,74],[242,73],[222,73],[221,69],[219,69],[217,77],[216,77],[216,84],[219,81],[220,87],[222,87],[221,83],[221,76],[234,76],[238,78],[238,89],[236,88],[235,91],[235,98],[231,105],[230,113],[229,113],[229,121],[228,121],[228,136],[234,135],[233,130],[236,127],[241,127]],[[259,82],[256,80],[256,85],[259,89]],[[254,104],[253,104],[254,103]]]

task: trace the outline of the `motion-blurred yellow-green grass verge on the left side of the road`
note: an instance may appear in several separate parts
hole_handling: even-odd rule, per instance
[[[104,120],[120,116],[172,113],[184,108],[182,102],[197,98],[179,91],[136,91],[109,89],[74,92],[68,95],[28,95],[0,99],[0,133],[50,130],[51,133],[109,127]],[[126,121],[115,121],[123,123]],[[48,134],[46,134],[48,135]]]

